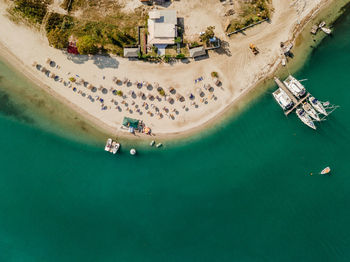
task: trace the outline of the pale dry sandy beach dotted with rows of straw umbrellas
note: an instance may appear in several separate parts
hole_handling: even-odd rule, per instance
[[[260,81],[271,76],[281,63],[280,42],[293,42],[308,19],[331,2],[274,0],[270,23],[231,37],[218,30],[225,52],[210,52],[207,59],[170,65],[115,56],[69,55],[50,47],[40,32],[11,22],[6,4],[0,1],[1,55],[44,90],[108,133],[129,136],[128,130],[121,126],[123,118],[130,117],[142,120],[153,135],[182,136],[215,123]],[[193,1],[178,7],[180,4],[176,2],[168,8],[193,10],[199,4]],[[179,11],[179,16],[188,20],[188,27],[196,17],[199,25],[204,24],[204,13],[211,7],[208,3],[191,17]],[[211,17],[214,23],[215,15]],[[215,26],[220,28],[220,24]],[[198,29],[188,28],[190,32]],[[259,47],[258,56],[250,51],[250,43]],[[220,86],[211,77],[213,71],[219,74]],[[74,83],[69,80],[72,77]],[[165,96],[158,93],[159,87]],[[117,91],[123,95],[116,95]],[[148,137],[138,133],[137,136]]]

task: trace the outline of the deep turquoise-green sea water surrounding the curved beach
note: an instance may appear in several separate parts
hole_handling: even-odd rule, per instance
[[[341,105],[316,132],[268,90],[212,134],[137,157],[45,131],[1,91],[0,261],[349,261],[349,47],[344,15],[296,74]]]

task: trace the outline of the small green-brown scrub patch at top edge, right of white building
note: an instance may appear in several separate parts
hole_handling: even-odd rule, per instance
[[[270,19],[271,9],[271,0],[239,0],[239,15],[230,21],[226,31],[233,32],[265,19]]]

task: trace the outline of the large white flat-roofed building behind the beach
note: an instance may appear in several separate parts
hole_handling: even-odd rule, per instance
[[[177,37],[176,11],[155,9],[148,16],[148,45],[155,46],[158,54],[164,55],[167,45],[175,44]]]

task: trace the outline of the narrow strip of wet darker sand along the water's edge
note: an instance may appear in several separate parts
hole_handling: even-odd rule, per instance
[[[317,12],[315,17],[318,17],[318,15],[320,13],[322,13],[324,10],[326,10],[329,6],[332,6],[333,3],[335,3],[335,2],[336,1],[331,1],[330,3],[327,3],[327,1],[322,1],[321,6],[316,7],[316,9],[318,9],[319,11]],[[345,3],[345,1],[344,1],[344,3]],[[339,15],[337,14],[335,16],[339,16]],[[297,32],[295,32],[293,30],[294,31],[293,35],[292,35],[293,42],[295,42],[295,40],[299,37],[299,35],[302,34],[303,31],[305,31],[305,26],[310,21],[315,19],[315,17],[312,17],[312,18],[306,17],[305,21],[302,21],[301,25],[299,25]],[[310,37],[310,39],[312,39],[312,37]],[[301,46],[306,45],[307,44],[306,42],[307,42],[307,40],[305,41],[305,39],[304,39],[304,42],[301,43]],[[304,46],[301,49],[305,49],[305,48],[306,47]],[[1,55],[1,57],[4,58],[4,60],[6,60],[6,62],[8,64],[10,64],[12,67],[15,67],[17,70],[18,70],[18,68],[21,68],[22,69],[21,73],[26,78],[29,78],[32,82],[34,82],[35,85],[39,84],[39,86],[45,92],[54,96],[54,98],[58,99],[63,104],[69,106],[72,110],[78,112],[78,114],[80,114],[82,116],[82,119],[84,119],[84,121],[86,121],[88,123],[88,125],[93,126],[96,130],[99,130],[101,132],[101,134],[107,135],[107,134],[111,133],[111,134],[117,135],[119,138],[121,138],[121,140],[131,140],[131,141],[136,140],[137,137],[134,137],[133,135],[130,135],[130,134],[124,133],[124,132],[123,133],[121,133],[121,132],[116,133],[114,128],[106,125],[103,121],[100,121],[99,119],[97,119],[96,117],[94,117],[90,114],[86,114],[86,112],[84,112],[83,109],[81,109],[80,107],[71,103],[71,101],[67,100],[66,98],[64,98],[63,96],[61,96],[60,94],[58,94],[57,92],[52,90],[51,87],[49,87],[48,85],[43,83],[38,77],[35,76],[35,74],[32,74],[32,72],[27,70],[26,66],[23,65],[21,63],[21,61],[13,53],[11,53],[10,50],[8,50],[6,47],[1,48],[1,49],[2,50],[0,52],[0,55]],[[297,52],[297,53],[298,53],[297,57],[300,56],[299,52]],[[275,59],[274,63],[269,65],[267,73],[259,75],[258,79],[255,81],[255,84],[248,87],[241,94],[239,94],[238,96],[236,96],[232,100],[230,100],[230,102],[228,102],[227,105],[225,105],[219,112],[215,112],[213,117],[210,117],[209,119],[199,123],[199,125],[197,125],[197,126],[190,127],[190,128],[185,129],[185,130],[180,129],[176,132],[165,133],[165,134],[157,133],[155,138],[158,140],[161,139],[163,141],[168,141],[168,140],[178,141],[178,140],[186,140],[186,138],[192,139],[192,138],[195,138],[197,136],[201,136],[202,134],[199,134],[200,130],[209,130],[208,132],[215,131],[216,126],[218,124],[224,123],[224,122],[232,119],[232,117],[234,117],[234,115],[236,115],[237,113],[242,111],[249,104],[250,101],[252,101],[253,99],[256,99],[257,98],[256,92],[261,93],[263,90],[266,90],[266,87],[260,88],[260,86],[270,86],[272,75],[279,74],[280,71],[283,71],[283,68],[281,68],[281,66],[279,65],[279,59],[280,58],[277,57]],[[302,64],[307,60],[307,57],[304,59],[301,59],[301,60],[302,61],[301,61],[301,64],[299,65],[299,67],[302,66]],[[293,61],[291,64],[294,64],[294,63],[295,62]],[[107,131],[107,132],[105,132],[105,131]],[[205,134],[206,133],[207,132],[205,132]],[[150,141],[152,139],[154,139],[154,137],[142,136],[140,142],[142,143],[145,141]]]

